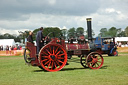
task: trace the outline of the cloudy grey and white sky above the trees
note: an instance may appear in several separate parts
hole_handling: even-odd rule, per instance
[[[128,26],[128,0],[0,0],[0,34],[18,34],[41,26],[92,29]]]

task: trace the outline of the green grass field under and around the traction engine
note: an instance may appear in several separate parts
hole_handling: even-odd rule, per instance
[[[98,70],[84,69],[74,57],[58,72],[25,65],[23,56],[1,56],[0,85],[128,85],[128,54],[104,56]]]

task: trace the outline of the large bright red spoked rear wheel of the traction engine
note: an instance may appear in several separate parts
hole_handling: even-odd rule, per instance
[[[48,44],[40,50],[39,62],[46,71],[59,71],[66,65],[67,52],[59,44]]]

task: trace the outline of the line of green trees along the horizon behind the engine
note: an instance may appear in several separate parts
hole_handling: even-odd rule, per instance
[[[0,34],[0,39],[14,39],[16,42],[21,42],[20,40],[28,37],[30,30],[26,30],[24,32],[19,32],[19,35],[12,35],[9,33]],[[36,33],[39,31],[39,28],[33,31],[33,39],[35,40]],[[68,38],[78,38],[80,35],[84,35],[85,38],[88,37],[87,30],[83,27],[78,28],[70,28],[70,29],[60,29],[58,27],[45,27],[43,30],[43,35],[47,36],[50,32],[54,32],[55,37],[63,37],[64,39]],[[92,36],[94,37],[95,32],[92,30]],[[111,28],[101,28],[100,33],[98,34],[100,37],[128,37],[128,26],[125,30],[121,28],[111,27]],[[51,33],[49,37],[53,37]]]

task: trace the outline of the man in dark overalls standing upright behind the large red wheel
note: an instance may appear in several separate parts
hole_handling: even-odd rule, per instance
[[[44,46],[43,27],[41,27],[40,30],[37,32],[36,44],[37,44],[37,54],[39,54],[40,49]]]

